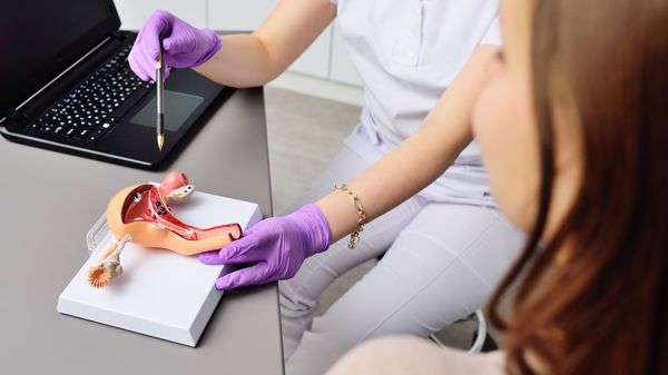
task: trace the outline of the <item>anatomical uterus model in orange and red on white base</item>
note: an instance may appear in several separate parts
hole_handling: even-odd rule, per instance
[[[120,190],[107,208],[107,225],[116,236],[97,265],[88,270],[88,283],[105,287],[122,274],[120,253],[128,241],[160,247],[181,255],[194,255],[225,247],[242,237],[238,224],[197,228],[181,223],[168,203],[178,203],[194,191],[188,178],[173,171],[159,186],[143,184]]]

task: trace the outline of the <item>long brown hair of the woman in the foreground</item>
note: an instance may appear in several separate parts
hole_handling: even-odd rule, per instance
[[[490,304],[490,320],[507,333],[508,369],[668,374],[668,1],[533,4],[539,213]],[[556,103],[574,114],[583,177],[570,213],[540,244]],[[517,283],[505,319],[499,302]]]

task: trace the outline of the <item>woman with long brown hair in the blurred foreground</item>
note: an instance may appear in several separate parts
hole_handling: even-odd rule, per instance
[[[668,2],[504,0],[501,14],[473,129],[493,196],[530,234],[491,299],[505,351],[385,338],[331,374],[668,374]]]

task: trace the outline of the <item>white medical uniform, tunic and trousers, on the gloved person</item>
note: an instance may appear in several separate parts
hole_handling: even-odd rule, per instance
[[[364,83],[361,124],[285,214],[345,184],[410,137],[481,43],[500,45],[499,0],[330,0]],[[364,201],[364,197],[361,197]],[[286,374],[323,374],[364,339],[428,336],[484,306],[523,235],[497,209],[471,144],[436,181],[279,282]],[[385,253],[386,251],[386,253]],[[382,260],[321,316],[318,296]]]

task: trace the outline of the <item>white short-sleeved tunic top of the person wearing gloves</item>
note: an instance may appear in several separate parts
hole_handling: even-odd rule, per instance
[[[482,43],[501,43],[500,0],[330,0],[364,85],[361,125],[346,146],[375,162],[410,137]],[[421,195],[494,206],[471,144]]]

